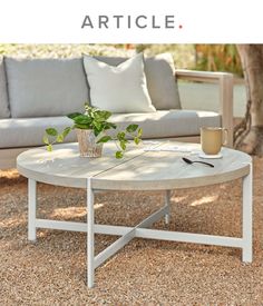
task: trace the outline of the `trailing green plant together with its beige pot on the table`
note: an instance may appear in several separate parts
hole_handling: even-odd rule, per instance
[[[75,129],[81,157],[100,157],[103,144],[115,140],[117,147],[115,156],[116,158],[123,158],[129,142],[127,136],[138,145],[142,140],[143,130],[138,125],[129,125],[125,130],[117,131],[115,136],[109,136],[107,130],[117,128],[115,124],[108,121],[110,116],[110,111],[99,110],[86,103],[84,113],[74,112],[67,116],[74,121],[71,127],[65,128],[60,134],[55,128],[46,129],[43,142],[47,146],[47,150],[51,151],[53,144],[62,142],[67,135]]]

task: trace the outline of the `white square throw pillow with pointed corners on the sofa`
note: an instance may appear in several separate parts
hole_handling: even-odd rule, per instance
[[[84,57],[94,107],[111,112],[153,112],[144,72],[144,57],[139,53],[117,67],[92,57]]]

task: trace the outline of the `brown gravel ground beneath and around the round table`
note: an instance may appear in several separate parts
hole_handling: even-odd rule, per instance
[[[27,180],[0,171],[0,305],[262,305],[263,160],[254,158],[254,260],[241,250],[134,239],[86,287],[86,235],[38,230],[27,240]],[[38,215],[85,220],[85,191],[39,185]],[[100,224],[135,225],[157,209],[160,193],[96,196]],[[56,204],[56,205],[55,205]],[[155,228],[164,228],[163,221]],[[174,191],[169,229],[241,236],[241,180]],[[96,251],[115,237],[96,236]]]

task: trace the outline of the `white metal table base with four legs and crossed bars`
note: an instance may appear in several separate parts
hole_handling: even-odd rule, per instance
[[[236,247],[242,249],[242,260],[252,261],[252,167],[250,175],[243,178],[243,237],[225,237],[203,234],[189,234],[171,230],[149,229],[154,223],[165,217],[165,223],[169,221],[169,196],[166,191],[165,206],[149,217],[140,221],[135,227],[98,225],[94,223],[94,189],[91,178],[87,179],[87,223],[57,221],[50,219],[36,218],[37,211],[37,182],[29,179],[29,211],[28,211],[28,239],[36,240],[37,228],[49,228],[59,230],[87,233],[87,283],[88,287],[94,286],[95,269],[128,244],[133,238],[148,238],[182,243],[194,243],[205,245],[217,245],[225,247]],[[94,255],[95,234],[106,234],[121,236],[98,255]]]

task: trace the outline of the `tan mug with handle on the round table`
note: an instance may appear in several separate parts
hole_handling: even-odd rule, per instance
[[[201,128],[201,147],[206,155],[217,155],[222,146],[227,145],[227,129],[203,127]]]

